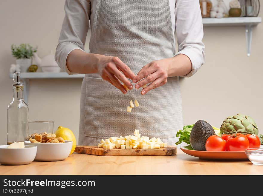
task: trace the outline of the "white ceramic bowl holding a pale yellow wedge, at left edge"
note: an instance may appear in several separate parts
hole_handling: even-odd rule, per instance
[[[25,145],[25,148],[7,148],[0,146],[0,163],[2,165],[25,165],[31,163],[36,157],[35,145]]]

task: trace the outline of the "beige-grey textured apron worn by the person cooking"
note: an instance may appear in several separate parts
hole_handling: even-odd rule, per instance
[[[91,53],[119,57],[136,75],[153,60],[175,54],[169,1],[97,0]],[[126,95],[99,74],[86,74],[82,82],[79,145],[97,145],[103,138],[133,135],[159,137],[175,144],[182,128],[181,95],[178,77],[146,95],[141,89]],[[130,100],[139,107],[126,112]]]

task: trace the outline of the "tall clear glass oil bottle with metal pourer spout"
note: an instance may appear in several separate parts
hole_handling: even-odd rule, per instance
[[[19,72],[15,74],[17,81],[13,79],[13,100],[7,106],[7,144],[26,141],[28,137],[28,106],[23,100],[24,85],[20,83]]]

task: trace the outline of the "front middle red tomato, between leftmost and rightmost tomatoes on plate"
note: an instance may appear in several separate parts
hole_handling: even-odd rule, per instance
[[[227,151],[245,151],[249,148],[249,141],[247,137],[243,134],[240,134],[236,137],[230,137],[227,140]]]

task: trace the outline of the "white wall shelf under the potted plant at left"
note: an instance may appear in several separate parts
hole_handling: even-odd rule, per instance
[[[44,78],[84,78],[85,74],[68,75],[66,72],[27,72],[20,73],[21,81],[24,83],[24,101],[28,103],[29,80],[30,79],[44,79]],[[13,73],[9,74],[13,77]]]

